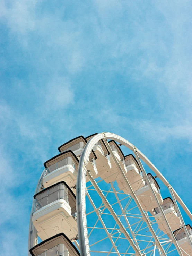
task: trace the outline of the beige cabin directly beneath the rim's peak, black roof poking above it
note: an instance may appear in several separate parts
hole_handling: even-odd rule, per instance
[[[97,133],[92,134],[86,137],[86,140],[90,140],[93,136],[97,135]],[[111,170],[111,163],[109,159],[109,152],[103,139],[99,140],[94,148],[93,151],[95,152],[97,159],[96,159],[96,166],[98,171],[98,176],[101,176],[104,172],[109,172]]]

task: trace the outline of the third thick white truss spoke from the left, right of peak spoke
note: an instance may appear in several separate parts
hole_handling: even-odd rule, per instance
[[[142,163],[141,163],[141,160],[140,160],[140,158],[139,158],[139,156],[138,156],[138,154],[137,154],[137,149],[134,148],[133,151],[134,151],[134,154],[135,154],[135,156],[136,156],[136,159],[137,159],[137,162],[138,162],[138,164],[139,164],[139,167],[141,168],[141,171],[142,171],[142,173],[143,173],[143,177],[145,178],[145,180],[146,180],[146,182],[147,182],[147,185],[149,186],[149,188],[150,188],[150,190],[151,190],[151,193],[152,193],[152,195],[154,196],[155,202],[156,202],[156,204],[157,204],[157,206],[158,206],[158,208],[159,208],[159,211],[160,211],[160,213],[161,213],[161,215],[162,215],[162,218],[163,218],[163,220],[165,221],[165,224],[166,224],[166,226],[167,226],[167,228],[168,228],[168,230],[169,230],[169,233],[170,233],[170,236],[171,236],[172,240],[174,241],[174,245],[175,245],[175,247],[176,247],[176,249],[177,249],[177,251],[178,251],[178,254],[179,254],[180,256],[182,256],[183,254],[182,254],[182,252],[181,252],[181,249],[180,249],[180,247],[179,247],[178,244],[177,244],[176,238],[175,238],[175,236],[173,235],[173,232],[172,232],[172,230],[171,230],[171,227],[169,226],[169,223],[168,223],[168,221],[167,221],[167,218],[166,218],[166,216],[165,216],[165,213],[163,212],[163,209],[162,209],[162,207],[161,207],[161,205],[160,205],[160,203],[159,203],[159,200],[158,200],[158,198],[157,198],[157,196],[156,196],[156,194],[155,194],[155,191],[153,190],[153,188],[152,188],[152,186],[151,186],[151,183],[150,183],[150,181],[149,181],[149,178],[148,178],[148,176],[147,176],[147,173],[146,173],[146,171],[145,171],[145,169],[144,169],[144,167],[143,167],[143,165],[142,165]]]

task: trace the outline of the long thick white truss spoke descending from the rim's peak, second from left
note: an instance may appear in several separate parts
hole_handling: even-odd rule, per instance
[[[136,194],[134,193],[134,191],[133,191],[133,189],[132,189],[132,187],[131,187],[131,185],[130,185],[128,179],[126,178],[126,176],[125,176],[125,174],[124,174],[124,172],[123,172],[123,170],[122,170],[122,168],[121,168],[119,162],[117,161],[115,155],[113,154],[113,151],[112,151],[112,149],[111,149],[111,147],[110,147],[110,145],[108,144],[108,142],[107,142],[106,139],[104,140],[104,143],[105,143],[105,145],[106,145],[108,151],[110,152],[110,154],[111,154],[111,156],[112,156],[112,158],[113,158],[113,160],[114,160],[114,162],[115,162],[115,164],[116,164],[117,169],[119,170],[120,174],[122,175],[125,184],[126,184],[127,187],[129,188],[130,194],[131,194],[131,196],[133,197],[133,199],[134,199],[134,201],[135,201],[137,207],[139,208],[139,210],[140,210],[140,212],[141,212],[141,214],[142,214],[142,216],[143,216],[143,220],[146,222],[146,224],[147,224],[147,226],[148,226],[148,228],[149,228],[149,231],[150,231],[151,234],[154,236],[155,242],[156,242],[156,244],[158,245],[158,247],[160,248],[160,250],[161,250],[161,252],[162,252],[162,255],[163,255],[163,256],[166,256],[166,253],[165,253],[165,251],[164,251],[164,249],[163,249],[163,246],[160,244],[160,241],[159,241],[159,239],[158,239],[158,237],[157,237],[157,235],[156,235],[154,229],[152,228],[151,223],[150,223],[148,217],[146,216],[145,212],[143,211],[143,208],[141,207],[141,205],[140,205],[140,203],[139,203],[139,201],[138,201],[138,199],[137,199]]]

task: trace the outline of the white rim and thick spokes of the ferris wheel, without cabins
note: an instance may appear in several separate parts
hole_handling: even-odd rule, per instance
[[[189,218],[192,220],[192,214],[191,212],[189,211],[189,209],[187,208],[187,206],[184,204],[184,202],[182,201],[182,199],[180,198],[180,196],[176,193],[176,191],[173,189],[173,187],[169,184],[169,182],[165,179],[165,177],[159,172],[159,170],[149,161],[149,159],[141,152],[139,151],[133,144],[131,144],[128,140],[122,138],[121,136],[119,135],[116,135],[114,133],[108,133],[108,132],[103,132],[103,133],[99,133],[95,136],[93,136],[88,142],[87,144],[85,145],[82,153],[81,153],[81,157],[80,157],[80,160],[79,160],[79,167],[78,167],[78,172],[77,172],[77,225],[78,225],[78,237],[79,237],[79,244],[76,242],[76,246],[80,249],[80,253],[81,253],[81,256],[90,256],[90,248],[89,248],[89,240],[88,240],[88,233],[87,233],[87,220],[86,220],[86,205],[85,205],[85,196],[86,196],[86,175],[87,177],[89,178],[89,180],[91,181],[93,187],[95,188],[95,190],[97,191],[97,193],[99,194],[99,196],[101,197],[102,201],[103,201],[103,204],[105,205],[106,208],[108,208],[108,210],[110,211],[111,215],[113,216],[114,220],[116,221],[116,223],[119,225],[119,228],[121,229],[121,232],[124,234],[124,236],[126,237],[126,239],[129,241],[130,245],[132,246],[132,248],[134,249],[135,251],[135,254],[136,256],[142,256],[143,254],[141,253],[139,247],[137,246],[137,244],[134,243],[134,240],[130,237],[130,235],[128,234],[128,232],[126,231],[126,229],[124,228],[123,224],[121,223],[119,217],[115,214],[115,212],[113,211],[113,208],[111,207],[110,203],[108,203],[106,197],[104,196],[104,194],[102,193],[101,189],[98,187],[97,183],[95,182],[94,178],[91,176],[90,172],[87,171],[86,169],[86,166],[88,164],[88,161],[89,161],[89,156],[90,156],[90,153],[91,151],[93,150],[93,147],[95,146],[95,144],[99,141],[103,139],[108,151],[110,152],[115,164],[116,164],[116,167],[118,169],[118,171],[121,173],[122,175],[122,178],[124,179],[124,182],[126,183],[126,185],[129,187],[130,189],[130,194],[131,196],[133,197],[134,201],[136,202],[140,212],[141,212],[141,215],[143,217],[143,220],[145,220],[146,224],[148,225],[148,228],[149,228],[149,231],[151,232],[152,236],[154,237],[155,239],[155,247],[157,246],[160,253],[163,255],[163,256],[166,256],[166,253],[165,253],[165,250],[163,249],[162,247],[162,244],[160,243],[154,229],[152,228],[151,226],[151,223],[149,221],[149,218],[148,216],[146,215],[146,213],[143,211],[138,199],[137,199],[137,196],[134,194],[134,191],[133,189],[131,188],[130,184],[129,184],[129,181],[126,179],[126,176],[123,172],[123,170],[121,169],[121,166],[120,164],[118,163],[118,161],[116,160],[116,157],[115,155],[113,154],[112,150],[111,150],[111,147],[110,145],[108,144],[107,140],[108,139],[112,139],[112,140],[115,140],[117,142],[119,142],[120,144],[126,146],[127,148],[129,148],[130,150],[132,150],[135,154],[135,157],[138,161],[138,164],[142,170],[142,173],[143,173],[143,177],[146,179],[146,182],[149,186],[149,188],[151,189],[151,192],[155,198],[155,201],[158,205],[158,208],[159,208],[159,211],[161,212],[162,214],[162,217],[165,221],[165,224],[168,228],[168,230],[170,231],[170,234],[171,234],[171,238],[172,238],[172,241],[173,241],[173,244],[175,245],[177,251],[178,251],[178,254],[180,256],[183,256],[182,254],[182,250],[181,248],[178,246],[177,244],[177,241],[171,231],[171,228],[168,224],[168,221],[165,217],[165,214],[162,210],[162,207],[157,199],[157,196],[155,195],[154,193],[154,190],[150,184],[150,181],[147,177],[147,174],[145,172],[145,169],[143,168],[143,165],[140,161],[143,160],[147,165],[148,167],[154,171],[154,173],[157,175],[157,177],[164,183],[164,185],[166,187],[169,188],[169,191],[170,191],[170,194],[172,195],[172,199],[173,199],[173,202],[175,203],[175,207],[176,207],[176,210],[177,210],[177,213],[178,213],[178,216],[180,217],[181,219],[181,222],[182,222],[182,227],[184,228],[185,230],[185,233],[186,233],[186,236],[188,238],[188,241],[190,241],[190,246],[192,248],[192,242],[191,242],[191,239],[189,237],[189,233],[185,227],[185,223],[184,223],[184,220],[183,220],[183,217],[181,215],[181,212],[178,208],[178,205],[177,205],[177,202],[176,200],[178,201],[178,203],[181,205],[181,207],[183,208],[183,210],[185,211],[185,213],[189,216]],[[37,183],[37,187],[36,187],[36,190],[35,190],[35,194],[38,193],[38,191],[40,190],[41,188],[41,185],[42,185],[42,180],[43,180],[43,177],[44,177],[44,173],[45,173],[45,170],[42,172],[41,174],[41,177]],[[89,197],[89,194],[88,194],[88,197]],[[33,200],[33,203],[32,203],[32,211],[31,211],[31,215],[30,215],[30,223],[29,223],[29,239],[28,239],[28,256],[30,256],[30,253],[29,253],[29,249],[32,248],[34,245],[37,244],[37,231],[33,225],[33,222],[32,222],[32,216],[33,216],[33,212],[34,212],[34,207],[35,207],[35,202]],[[155,249],[154,249],[154,252],[155,252]]]

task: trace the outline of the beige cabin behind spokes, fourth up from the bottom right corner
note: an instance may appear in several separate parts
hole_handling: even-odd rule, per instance
[[[133,191],[138,190],[139,188],[142,188],[145,185],[145,181],[142,176],[141,169],[139,167],[139,164],[135,157],[132,154],[125,156],[125,167],[126,167],[126,178],[128,179]],[[130,193],[129,188],[125,184],[124,180],[121,182],[117,181],[118,187],[124,192],[124,193]]]

